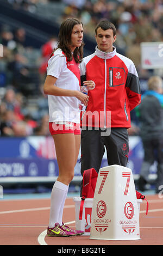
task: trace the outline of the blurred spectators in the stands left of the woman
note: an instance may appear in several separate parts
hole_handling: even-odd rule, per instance
[[[49,135],[48,102],[43,81],[49,54],[56,46],[50,39],[41,49],[26,46],[26,31],[1,27],[0,136]]]

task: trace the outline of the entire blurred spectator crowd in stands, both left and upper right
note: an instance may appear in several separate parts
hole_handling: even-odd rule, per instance
[[[8,0],[14,8],[35,13],[37,4],[64,3],[60,24],[77,17],[84,33],[94,39],[95,27],[108,19],[117,28],[117,51],[133,60],[140,78],[146,80],[154,70],[141,68],[140,42],[163,41],[163,2],[161,0]],[[47,17],[48,19],[48,17]],[[26,45],[26,31],[1,26],[0,44],[0,136],[49,135],[48,103],[43,94],[46,65],[57,38],[52,35],[40,49]],[[94,49],[92,49],[92,52]],[[131,115],[132,117],[132,115]],[[133,119],[134,119],[133,115]],[[136,123],[136,122],[135,122]],[[131,134],[139,134],[133,126]]]

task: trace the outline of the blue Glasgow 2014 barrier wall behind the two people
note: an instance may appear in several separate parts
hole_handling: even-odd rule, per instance
[[[80,153],[74,169],[74,177],[80,179]],[[128,167],[134,175],[139,174],[143,160],[143,148],[140,137],[129,137]],[[106,153],[102,166],[107,166]],[[155,164],[151,173],[156,172]],[[0,184],[8,177],[55,177],[58,176],[58,164],[52,137],[30,136],[26,138],[0,139]],[[35,179],[37,181],[37,179]]]

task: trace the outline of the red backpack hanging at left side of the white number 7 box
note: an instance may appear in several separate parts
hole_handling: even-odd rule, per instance
[[[85,198],[93,198],[97,182],[97,172],[94,168],[87,169],[83,173],[82,200],[80,203],[79,220],[82,220],[83,205]]]

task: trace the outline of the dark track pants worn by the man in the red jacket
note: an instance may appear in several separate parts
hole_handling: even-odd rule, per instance
[[[126,128],[112,128],[105,136],[101,130],[82,130],[81,135],[81,174],[94,168],[98,173],[101,168],[106,148],[108,165],[126,166],[128,162],[128,132]],[[82,191],[82,190],[81,190]],[[82,193],[82,192],[81,192]]]

